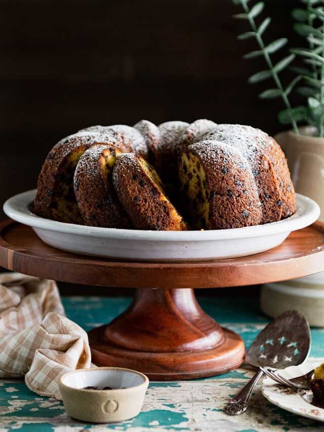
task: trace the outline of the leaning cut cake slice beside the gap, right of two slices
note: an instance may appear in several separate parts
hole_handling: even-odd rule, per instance
[[[135,228],[186,229],[182,217],[159,184],[155,170],[144,159],[130,153],[120,155],[113,169],[112,180],[119,202]]]

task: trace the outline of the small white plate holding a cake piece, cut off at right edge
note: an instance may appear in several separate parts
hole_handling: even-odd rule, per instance
[[[280,375],[288,379],[295,378],[296,376],[303,375],[311,369],[316,368],[320,363],[321,362],[308,361],[299,366],[290,366],[289,368],[281,370]],[[266,378],[263,380],[261,391],[262,395],[277,407],[302,415],[303,417],[324,421],[324,409],[311,404],[312,393],[310,390],[305,392],[303,398],[296,391],[278,385],[272,379]]]

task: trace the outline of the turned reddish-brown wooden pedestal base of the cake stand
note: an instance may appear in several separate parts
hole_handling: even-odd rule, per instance
[[[89,332],[97,366],[135,369],[154,380],[202,378],[244,361],[236,333],[198,305],[192,289],[138,289],[130,307]]]

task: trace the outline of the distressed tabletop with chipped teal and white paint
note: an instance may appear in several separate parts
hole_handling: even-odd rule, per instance
[[[63,297],[68,318],[86,330],[100,326],[119,315],[130,298]],[[247,347],[268,320],[261,314],[257,299],[200,298],[201,306],[217,321],[239,333]],[[312,358],[324,358],[324,329],[312,329]],[[128,430],[130,432],[201,431],[201,432],[265,432],[319,431],[323,423],[281,410],[267,402],[260,388],[251,406],[240,416],[229,417],[223,406],[246,380],[252,370],[236,371],[206,379],[178,382],[151,382],[142,412],[123,423],[87,424],[68,417],[61,402],[42,398],[31,392],[22,380],[0,381],[0,432],[85,432]]]

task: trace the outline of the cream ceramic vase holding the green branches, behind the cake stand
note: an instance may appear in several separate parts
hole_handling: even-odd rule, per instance
[[[316,201],[324,222],[324,138],[313,127],[275,136],[288,159],[296,192]],[[261,290],[261,309],[276,317],[289,309],[300,310],[311,326],[324,327],[324,272],[292,281],[267,284]]]

